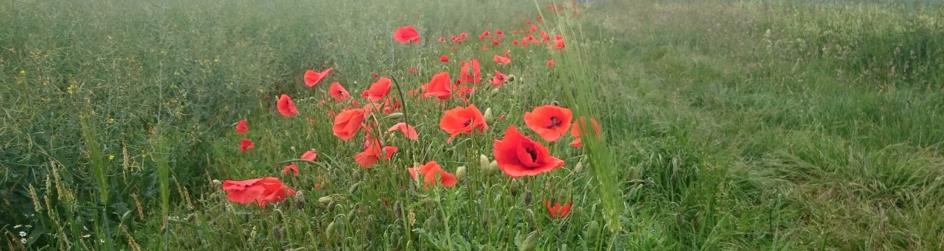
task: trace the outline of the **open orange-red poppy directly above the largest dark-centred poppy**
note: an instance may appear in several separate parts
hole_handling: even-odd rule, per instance
[[[548,142],[557,141],[567,133],[573,114],[570,109],[541,106],[525,112],[525,124]]]

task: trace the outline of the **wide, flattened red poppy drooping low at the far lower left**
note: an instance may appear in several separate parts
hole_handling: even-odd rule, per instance
[[[295,195],[295,190],[285,186],[277,177],[226,180],[223,182],[223,191],[227,192],[229,201],[242,204],[256,202],[260,207]]]

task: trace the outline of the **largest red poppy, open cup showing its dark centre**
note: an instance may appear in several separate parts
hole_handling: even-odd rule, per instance
[[[514,126],[508,126],[505,137],[496,140],[494,147],[498,168],[513,178],[535,176],[564,166],[564,160],[550,156],[541,142],[521,135]]]

